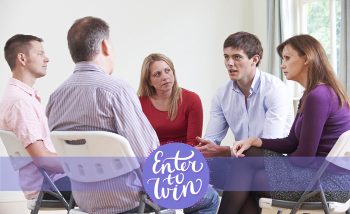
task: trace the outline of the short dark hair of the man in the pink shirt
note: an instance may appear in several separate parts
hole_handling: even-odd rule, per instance
[[[16,34],[6,41],[3,52],[5,55],[5,60],[11,71],[16,67],[16,58],[18,53],[29,54],[29,50],[31,48],[30,41],[43,42],[42,38],[23,34]]]

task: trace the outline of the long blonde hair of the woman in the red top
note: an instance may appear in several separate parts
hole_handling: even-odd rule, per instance
[[[172,70],[172,73],[174,75],[174,83],[172,85],[171,89],[171,96],[170,96],[170,101],[168,103],[168,111],[167,111],[167,119],[170,119],[170,121],[173,121],[176,118],[177,114],[177,101],[180,99],[180,105],[182,103],[182,96],[181,96],[181,91],[182,89],[178,87],[177,85],[177,79],[175,75],[175,69],[172,61],[166,57],[165,55],[161,53],[152,53],[149,54],[142,63],[142,68],[141,68],[141,77],[140,77],[140,84],[137,89],[137,96],[138,97],[151,97],[153,96],[155,92],[155,88],[151,85],[148,84],[147,80],[149,79],[149,74],[150,74],[150,69],[149,66],[155,61],[161,61],[163,60],[166,62],[169,66],[170,69]]]

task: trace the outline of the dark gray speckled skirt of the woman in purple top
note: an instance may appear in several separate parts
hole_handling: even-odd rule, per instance
[[[297,202],[318,171],[308,167],[296,167],[287,158],[269,158],[285,157],[271,150],[263,149],[263,157],[272,199]],[[350,174],[339,175],[323,172],[320,183],[323,190],[325,190],[324,195],[328,202],[345,203],[350,199],[350,192],[348,192],[350,190]],[[316,194],[305,202],[320,202],[320,198]]]

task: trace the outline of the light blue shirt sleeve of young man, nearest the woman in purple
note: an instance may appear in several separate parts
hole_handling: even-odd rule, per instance
[[[287,87],[280,86],[273,90],[265,104],[267,111],[265,113],[262,138],[272,139],[285,137],[288,115],[294,116],[294,112],[292,112],[292,102],[293,99]],[[289,123],[291,122],[289,121]],[[289,127],[290,125],[291,124],[289,124]]]

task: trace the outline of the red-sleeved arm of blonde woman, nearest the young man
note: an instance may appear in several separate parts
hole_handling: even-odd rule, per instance
[[[203,108],[197,94],[191,93],[189,96],[188,118],[187,118],[187,145],[196,146],[199,143],[195,137],[200,136],[203,128]]]

